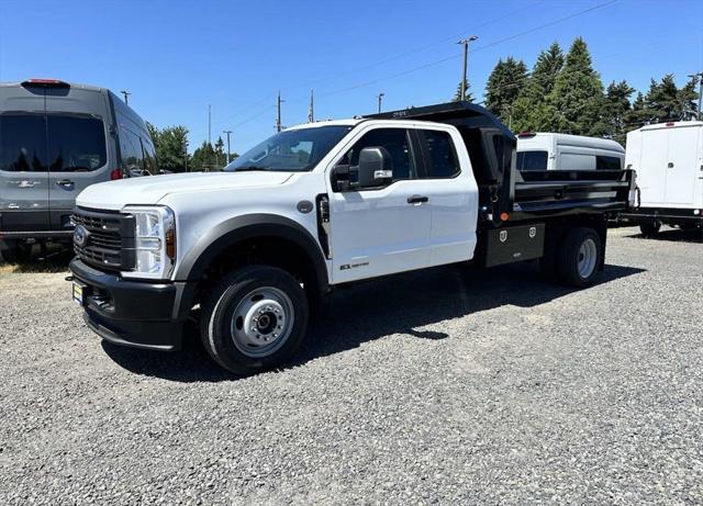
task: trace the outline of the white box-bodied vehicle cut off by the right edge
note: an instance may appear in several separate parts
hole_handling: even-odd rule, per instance
[[[623,217],[654,235],[662,224],[703,225],[703,122],[646,125],[627,134],[625,164],[637,171],[639,209]]]

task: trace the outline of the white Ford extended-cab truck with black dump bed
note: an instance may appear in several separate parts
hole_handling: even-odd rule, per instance
[[[212,358],[250,374],[289,358],[341,284],[535,259],[592,284],[634,173],[514,160],[499,120],[454,102],[289,128],[223,172],[96,184],[72,218],[72,297],[103,339],[148,349],[178,349],[199,314]]]

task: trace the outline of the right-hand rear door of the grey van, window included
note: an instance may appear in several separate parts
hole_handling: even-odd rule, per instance
[[[109,111],[100,90],[47,90],[48,203],[54,229],[70,228],[76,196],[90,184],[110,179]]]

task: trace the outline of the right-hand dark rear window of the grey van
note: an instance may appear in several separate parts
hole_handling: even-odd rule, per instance
[[[89,172],[108,162],[102,120],[72,115],[47,115],[48,170]]]

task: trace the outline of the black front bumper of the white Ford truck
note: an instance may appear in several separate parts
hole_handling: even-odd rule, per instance
[[[183,322],[192,307],[194,284],[125,280],[70,262],[72,278],[83,289],[83,319],[115,345],[171,351],[182,346]]]

